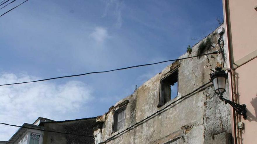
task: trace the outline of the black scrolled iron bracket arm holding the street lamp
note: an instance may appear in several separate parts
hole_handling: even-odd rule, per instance
[[[223,98],[222,95],[220,95],[219,98],[220,98],[220,100],[225,102],[225,104],[227,104],[227,103],[230,104],[239,115],[243,116],[244,119],[247,118],[247,116],[246,116],[246,105],[245,104],[237,104],[235,102],[232,102],[228,99]]]

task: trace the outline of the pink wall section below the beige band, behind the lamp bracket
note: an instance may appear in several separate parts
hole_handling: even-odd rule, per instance
[[[257,143],[257,58],[236,69],[237,90],[240,104],[246,104],[246,120],[242,143]]]

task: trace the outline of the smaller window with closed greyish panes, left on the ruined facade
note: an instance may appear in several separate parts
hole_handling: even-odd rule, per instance
[[[114,112],[112,132],[118,131],[125,126],[126,106]]]

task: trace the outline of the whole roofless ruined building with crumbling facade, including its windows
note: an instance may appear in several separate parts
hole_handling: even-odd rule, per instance
[[[218,40],[223,38],[220,34],[213,31],[193,46],[192,52],[179,58],[219,51]],[[230,106],[218,99],[210,82],[211,69],[221,65],[221,53],[168,65],[133,94],[97,117],[96,143],[231,143]],[[228,92],[223,96],[228,98]]]

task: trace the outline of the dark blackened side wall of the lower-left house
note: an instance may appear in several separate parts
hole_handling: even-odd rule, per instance
[[[92,125],[96,118],[87,118],[80,120],[67,120],[62,122],[46,122],[45,130],[67,132],[73,134],[93,136]],[[53,132],[44,132],[43,144],[93,144],[93,138],[85,136],[59,134]]]

